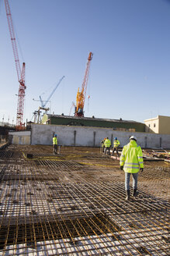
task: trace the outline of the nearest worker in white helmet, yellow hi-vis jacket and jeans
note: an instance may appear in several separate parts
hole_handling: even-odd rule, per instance
[[[137,145],[137,138],[135,136],[130,137],[130,143],[123,147],[122,154],[120,156],[120,169],[125,172],[125,190],[127,193],[126,200],[130,199],[130,174],[133,176],[133,197],[137,196],[137,176],[141,169],[144,170],[144,160],[142,150]]]

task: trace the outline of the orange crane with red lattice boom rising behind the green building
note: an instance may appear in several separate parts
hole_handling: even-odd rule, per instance
[[[92,55],[93,53],[90,52],[88,55],[88,62],[87,62],[87,66],[85,69],[85,76],[84,76],[84,80],[82,83],[82,89],[81,91],[79,91],[79,87],[78,87],[78,93],[77,93],[77,97],[76,97],[76,106],[75,106],[75,116],[84,116],[84,105],[85,105],[85,94],[87,91],[87,85],[88,85],[88,74],[89,74],[89,69],[90,69],[90,62],[92,60]]]

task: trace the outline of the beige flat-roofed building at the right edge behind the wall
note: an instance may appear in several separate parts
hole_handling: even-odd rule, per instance
[[[170,116],[157,116],[144,120],[146,133],[170,134]]]

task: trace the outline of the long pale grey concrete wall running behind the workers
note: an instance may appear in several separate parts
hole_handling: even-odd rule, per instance
[[[135,135],[141,148],[170,148],[170,135],[155,133],[132,133],[115,131],[111,128],[83,126],[54,126],[32,124],[31,144],[51,145],[54,133],[57,133],[58,144],[63,146],[99,147],[104,137],[120,140],[120,147],[129,142]]]

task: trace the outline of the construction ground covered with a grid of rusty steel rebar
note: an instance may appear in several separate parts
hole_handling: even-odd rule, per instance
[[[169,162],[145,161],[125,201],[119,161],[99,148],[2,148],[0,256],[170,255],[169,181]]]

